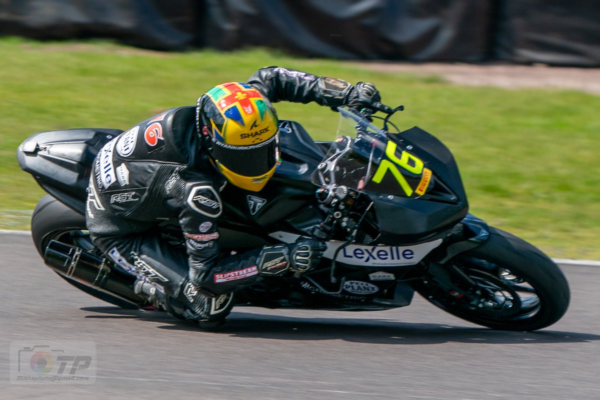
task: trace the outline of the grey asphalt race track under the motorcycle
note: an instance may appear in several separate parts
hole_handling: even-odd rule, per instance
[[[220,332],[200,332],[70,287],[29,236],[0,235],[0,267],[1,399],[600,399],[596,266],[563,266],[571,307],[531,333],[419,297],[379,312],[237,308]],[[10,383],[10,343],[40,340],[94,342],[95,383]]]

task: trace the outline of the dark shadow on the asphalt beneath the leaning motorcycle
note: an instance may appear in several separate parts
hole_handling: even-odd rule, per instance
[[[589,333],[539,330],[512,332],[478,326],[456,326],[436,323],[413,323],[383,318],[289,317],[233,311],[227,323],[218,329],[200,330],[191,321],[170,317],[164,312],[122,309],[118,307],[85,307],[83,311],[98,313],[86,318],[133,318],[166,323],[158,328],[189,331],[205,335],[227,335],[239,338],[262,338],[292,341],[343,340],[368,344],[440,344],[446,342],[478,344],[542,344],[580,343],[600,340]],[[103,315],[99,315],[103,314]],[[465,324],[469,324],[465,322]]]

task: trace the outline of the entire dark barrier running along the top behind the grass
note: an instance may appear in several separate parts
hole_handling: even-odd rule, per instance
[[[596,0],[0,0],[0,35],[157,50],[600,66]]]

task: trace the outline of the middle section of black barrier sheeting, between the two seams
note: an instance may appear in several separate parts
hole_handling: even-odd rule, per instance
[[[212,47],[271,46],[341,59],[482,61],[490,2],[208,0]]]

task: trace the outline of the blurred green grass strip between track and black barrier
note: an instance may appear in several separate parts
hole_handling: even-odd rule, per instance
[[[106,42],[0,39],[0,228],[28,228],[29,212],[43,196],[16,163],[26,137],[60,128],[125,130],[265,65],[376,83],[386,103],[406,106],[401,127],[418,125],[454,152],[472,213],[553,257],[600,259],[599,97],[463,87],[262,49],[158,53]],[[325,107],[280,103],[277,109],[315,139],[334,135],[337,115]]]

